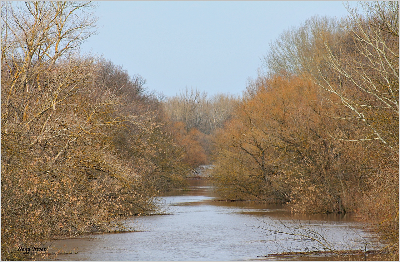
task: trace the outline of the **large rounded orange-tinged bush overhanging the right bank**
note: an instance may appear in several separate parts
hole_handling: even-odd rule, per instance
[[[328,134],[354,136],[346,122],[321,116],[338,108],[321,103],[318,86],[304,78],[264,78],[252,85],[214,138],[218,190],[229,195],[246,185],[248,199],[289,203],[299,212],[354,211],[361,180],[356,172],[367,161],[360,143]]]

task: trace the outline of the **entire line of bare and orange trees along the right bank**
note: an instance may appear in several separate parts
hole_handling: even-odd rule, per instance
[[[397,259],[398,2],[348,11],[270,44],[265,70],[215,132],[212,179],[226,199],[356,213]]]

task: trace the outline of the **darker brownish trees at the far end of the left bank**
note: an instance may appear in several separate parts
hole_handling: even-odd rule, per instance
[[[137,123],[114,130],[111,144],[118,157],[132,164],[140,174],[143,190],[149,195],[175,187],[185,187],[188,165],[184,151],[175,141],[176,134],[166,121],[158,98],[146,92],[146,80],[140,75],[129,77],[110,61],[100,62],[100,87],[115,91],[123,105],[120,114],[136,115]],[[121,77],[122,76],[122,77]]]

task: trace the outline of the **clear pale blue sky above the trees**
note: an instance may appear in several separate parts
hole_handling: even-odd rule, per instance
[[[173,96],[185,87],[241,93],[280,33],[316,14],[347,11],[341,1],[102,1],[96,14],[102,28],[83,51]]]

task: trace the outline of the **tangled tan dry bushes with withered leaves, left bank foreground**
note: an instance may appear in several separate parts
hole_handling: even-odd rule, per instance
[[[55,83],[64,98],[46,106],[48,96],[38,91],[24,112],[2,118],[3,258],[20,245],[124,229],[121,216],[159,212],[140,175],[111,146],[112,130],[139,123],[117,113],[121,98],[91,84],[95,69],[76,82],[74,63],[54,63],[37,83],[45,94]]]

